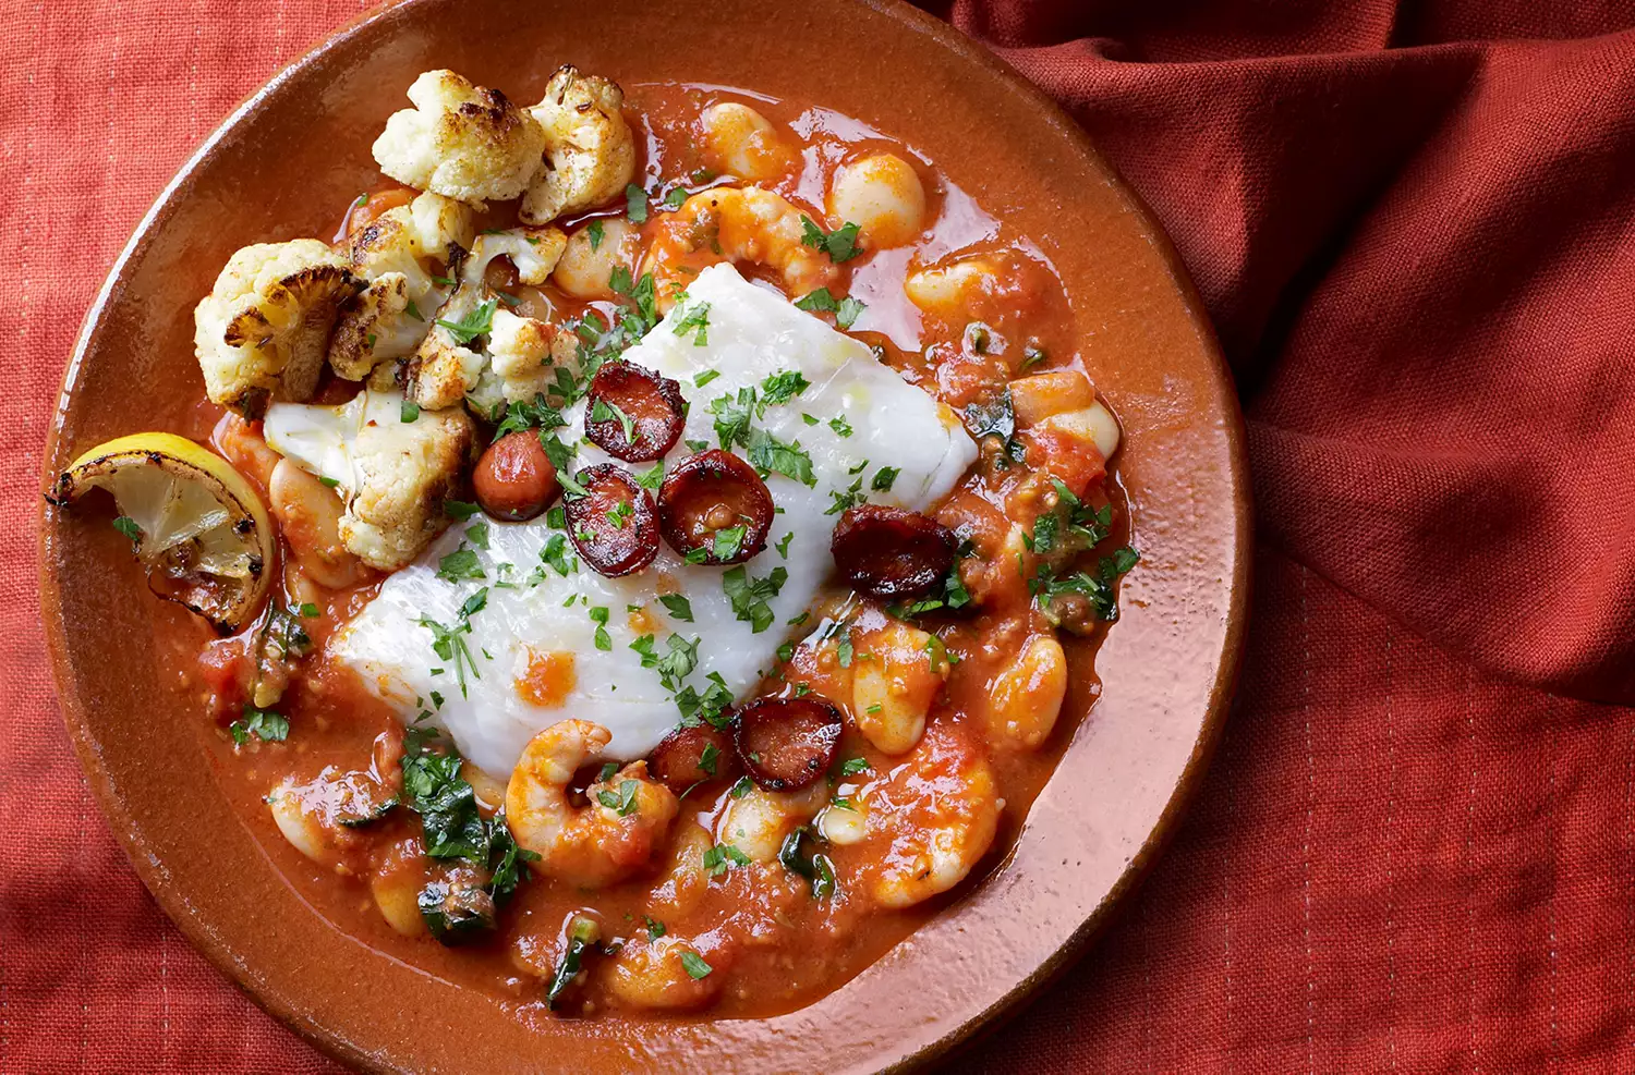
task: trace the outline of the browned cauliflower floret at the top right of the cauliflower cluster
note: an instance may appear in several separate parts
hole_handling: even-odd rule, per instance
[[[636,139],[620,111],[625,91],[600,75],[562,65],[528,109],[543,131],[544,167],[523,194],[528,224],[611,201],[636,176]]]

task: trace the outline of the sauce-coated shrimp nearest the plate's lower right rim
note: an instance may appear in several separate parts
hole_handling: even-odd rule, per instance
[[[960,884],[999,828],[994,771],[955,725],[934,724],[909,758],[853,802],[867,835],[860,874],[883,907],[909,907]]]

